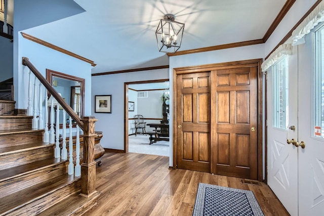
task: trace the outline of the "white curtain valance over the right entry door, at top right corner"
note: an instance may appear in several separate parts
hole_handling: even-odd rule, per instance
[[[320,2],[316,8],[303,20],[293,31],[293,45],[303,44],[303,37],[310,32],[318,23],[324,21],[324,2]]]

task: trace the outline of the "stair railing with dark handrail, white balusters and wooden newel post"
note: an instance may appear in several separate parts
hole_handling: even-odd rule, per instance
[[[22,58],[22,64],[29,68],[29,84],[28,84],[28,115],[33,116],[32,128],[44,129],[44,142],[54,144],[55,143],[55,157],[66,160],[67,159],[67,147],[66,147],[66,123],[63,123],[63,143],[62,150],[59,146],[59,107],[63,108],[63,119],[66,119],[66,113],[69,115],[69,165],[68,174],[72,175],[75,168],[75,176],[81,176],[81,194],[86,197],[90,197],[96,192],[95,180],[96,180],[96,162],[94,160],[94,145],[95,145],[95,119],[93,116],[87,116],[81,119],[74,110],[65,102],[65,100],[59,95],[59,93],[52,87],[45,77],[34,67],[28,58]],[[32,88],[31,73],[35,75],[34,88]],[[39,80],[39,85],[37,85]],[[45,87],[45,99],[42,93],[42,84]],[[32,97],[33,89],[33,97]],[[37,89],[39,94],[37,97]],[[48,122],[48,92],[50,93],[50,122]],[[56,101],[55,101],[56,100]],[[38,104],[37,104],[38,101]],[[43,101],[45,101],[45,121],[43,121]],[[33,104],[33,105],[32,105]],[[38,112],[37,112],[38,105]],[[54,105],[56,105],[56,129],[54,130]],[[37,117],[38,113],[38,117]],[[72,140],[72,119],[76,122],[76,160],[75,167],[73,164],[73,140]],[[48,130],[50,123],[50,132]],[[44,125],[45,124],[45,125]],[[83,145],[83,163],[80,164],[80,140],[79,129],[82,129],[84,136]]]

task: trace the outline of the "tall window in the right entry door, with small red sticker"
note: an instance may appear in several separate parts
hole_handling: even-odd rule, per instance
[[[314,133],[313,137],[324,138],[324,26],[315,31],[315,73],[314,73]]]

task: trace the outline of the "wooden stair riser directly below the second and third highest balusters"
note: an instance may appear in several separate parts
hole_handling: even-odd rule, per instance
[[[0,136],[0,148],[43,141],[44,132],[20,133]]]

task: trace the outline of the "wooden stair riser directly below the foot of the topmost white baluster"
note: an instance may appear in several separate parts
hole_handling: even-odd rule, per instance
[[[31,129],[32,119],[26,118],[0,118],[0,128],[5,129]]]

